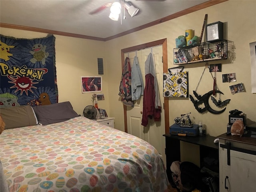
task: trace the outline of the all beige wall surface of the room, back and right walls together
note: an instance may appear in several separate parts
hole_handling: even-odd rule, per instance
[[[217,136],[226,132],[228,112],[238,109],[247,114],[248,122],[256,122],[256,94],[251,93],[251,63],[249,43],[256,41],[256,1],[255,0],[229,0],[197,12],[175,18],[168,22],[140,30],[138,32],[110,40],[100,42],[56,36],[56,67],[59,90],[59,102],[69,100],[78,114],[82,114],[85,106],[91,104],[91,94],[82,94],[80,76],[97,75],[97,58],[104,58],[103,92],[105,100],[99,101],[99,107],[105,108],[108,114],[115,118],[115,128],[124,131],[123,105],[120,102],[119,84],[122,73],[121,49],[167,38],[168,44],[168,68],[173,65],[173,48],[175,38],[184,35],[186,29],[193,29],[195,35],[200,36],[205,14],[208,14],[207,23],[221,21],[225,23],[225,38],[234,42],[234,60],[221,60],[210,64],[221,63],[222,72],[216,74],[217,85],[224,93],[222,100],[231,99],[226,111],[222,114],[206,112],[200,114],[194,108],[189,98],[170,98],[170,124],[180,114],[191,112],[194,124],[201,120],[206,126],[207,133]],[[136,19],[136,17],[134,17]],[[46,34],[0,28],[0,32],[6,36],[20,38],[38,38]],[[205,63],[185,65],[189,72],[189,94],[199,82]],[[222,74],[236,73],[236,82],[222,83]],[[242,82],[246,92],[232,95],[229,86]],[[198,87],[198,94],[205,94],[212,90],[213,80],[208,71],[204,73]],[[213,107],[214,108],[214,107]],[[215,109],[215,108],[214,108]],[[216,108],[218,110],[218,108]],[[163,117],[163,115],[162,115]],[[164,126],[164,125],[162,125]],[[160,133],[164,134],[164,133]],[[182,146],[187,145],[182,144]],[[189,153],[198,150],[197,146],[190,145]],[[185,150],[184,150],[185,151]],[[192,158],[184,152],[182,158]]]

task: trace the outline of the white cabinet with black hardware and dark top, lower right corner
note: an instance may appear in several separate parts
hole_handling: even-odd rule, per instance
[[[220,192],[256,191],[256,138],[219,138]]]

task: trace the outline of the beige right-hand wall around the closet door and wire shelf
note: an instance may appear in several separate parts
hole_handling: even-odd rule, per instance
[[[120,121],[116,121],[116,127],[122,128],[124,123],[122,121],[122,104],[117,102],[120,100],[118,96],[118,85],[121,74],[121,58],[120,50],[131,46],[151,42],[167,38],[168,44],[168,68],[173,65],[173,48],[175,48],[175,38],[184,35],[186,29],[193,29],[195,35],[200,36],[202,30],[202,23],[205,14],[208,14],[208,22],[216,21],[224,22],[228,27],[225,29],[225,38],[234,42],[234,61],[221,60],[217,62],[210,62],[210,64],[221,63],[222,72],[216,73],[217,85],[220,91],[224,93],[222,100],[231,99],[227,105],[226,111],[222,114],[212,114],[206,112],[200,114],[194,108],[194,105],[189,98],[170,98],[170,124],[174,123],[174,118],[180,114],[191,112],[191,118],[195,124],[201,120],[207,128],[208,134],[217,136],[226,132],[226,125],[228,123],[228,115],[230,110],[238,109],[247,114],[248,121],[256,121],[256,94],[251,93],[251,68],[250,68],[250,49],[249,43],[256,41],[256,1],[237,1],[229,0],[199,10],[197,12],[175,18],[168,22],[140,30],[138,32],[116,38],[106,42],[108,63],[109,63],[109,93],[110,93],[110,112],[112,116]],[[134,18],[135,19],[135,18]],[[199,82],[200,76],[204,70],[205,63],[187,64],[184,65],[185,70],[189,72],[189,94],[193,95],[193,90]],[[236,72],[236,82],[222,83],[222,74]],[[232,95],[229,89],[230,85],[242,82],[246,92]],[[210,72],[205,72],[198,87],[198,94],[205,94],[212,90],[213,80]],[[111,106],[115,106],[112,108]],[[212,107],[214,108],[214,106]],[[219,110],[218,108],[214,108]],[[164,126],[164,125],[163,125]]]

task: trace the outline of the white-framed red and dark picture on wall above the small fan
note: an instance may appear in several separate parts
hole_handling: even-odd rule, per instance
[[[82,93],[102,92],[101,76],[81,76]]]

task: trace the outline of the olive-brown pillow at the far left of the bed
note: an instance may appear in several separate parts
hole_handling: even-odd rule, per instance
[[[37,124],[34,111],[28,105],[1,108],[0,115],[6,124],[5,129]]]

